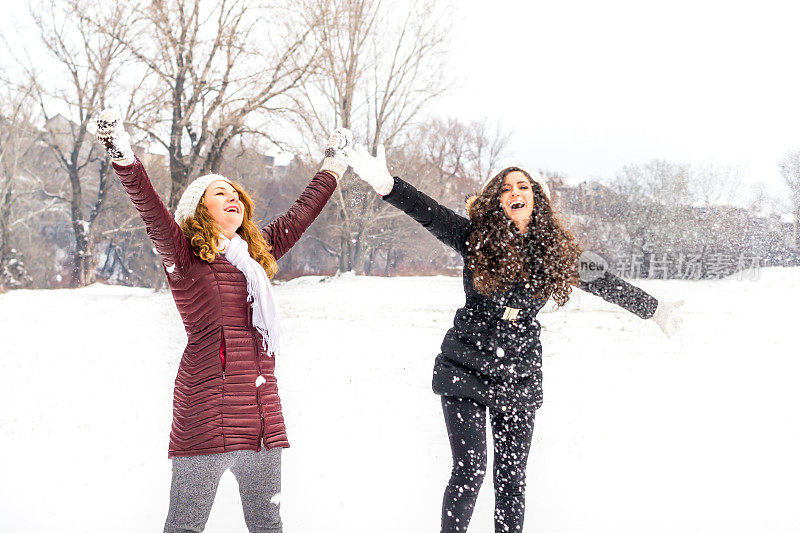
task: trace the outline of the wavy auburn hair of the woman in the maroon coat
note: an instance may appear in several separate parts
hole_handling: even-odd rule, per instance
[[[267,276],[272,279],[278,271],[278,262],[275,261],[275,257],[271,253],[272,246],[270,246],[264,238],[264,234],[261,233],[261,230],[258,229],[258,226],[253,221],[253,199],[238,183],[232,181],[230,184],[239,193],[239,200],[244,206],[242,225],[239,226],[236,233],[247,243],[247,251],[250,252],[250,257],[264,267]],[[207,263],[214,261],[216,255],[220,253],[217,247],[217,239],[222,230],[211,217],[203,198],[200,198],[194,215],[186,217],[181,223],[181,230],[186,235],[186,238],[189,239],[192,251],[197,257]]]

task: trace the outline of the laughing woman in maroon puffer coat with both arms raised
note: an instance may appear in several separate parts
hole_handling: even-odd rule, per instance
[[[286,214],[259,229],[242,187],[210,174],[186,188],[173,218],[133,155],[120,117],[103,111],[97,137],[161,255],[188,343],[175,378],[172,485],[165,532],[202,531],[230,469],[251,532],[282,531],[281,449],[289,447],[275,379],[276,261],[311,225],[347,169],[336,130],[320,171]]]

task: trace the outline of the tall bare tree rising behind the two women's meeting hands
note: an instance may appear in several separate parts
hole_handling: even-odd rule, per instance
[[[296,106],[296,123],[304,151],[320,132],[335,125],[354,130],[374,153],[378,144],[397,154],[414,131],[415,120],[444,91],[441,75],[449,21],[433,0],[410,3],[381,0],[317,0],[322,14],[324,42],[318,76],[305,84]],[[308,157],[308,156],[307,156]],[[369,187],[346,175],[332,199],[335,214],[326,219],[335,230],[325,247],[338,258],[342,271],[362,269],[375,233],[388,209]]]

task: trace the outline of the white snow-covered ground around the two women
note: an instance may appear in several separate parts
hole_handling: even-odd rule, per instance
[[[643,281],[684,299],[668,340],[576,291],[540,314],[545,403],[526,530],[800,531],[800,269]],[[460,278],[277,288],[287,533],[436,532],[450,451],[431,368]],[[0,531],[159,531],[185,335],[167,293],[0,295]],[[492,531],[487,476],[470,531]],[[246,531],[223,477],[208,532]]]

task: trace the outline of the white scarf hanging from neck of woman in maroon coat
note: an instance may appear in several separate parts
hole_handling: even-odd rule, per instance
[[[278,353],[280,345],[280,312],[278,301],[272,291],[272,283],[261,264],[250,257],[247,242],[237,233],[233,239],[224,235],[219,238],[220,249],[233,266],[247,279],[247,301],[253,302],[253,326],[261,333],[265,350],[270,356]]]

